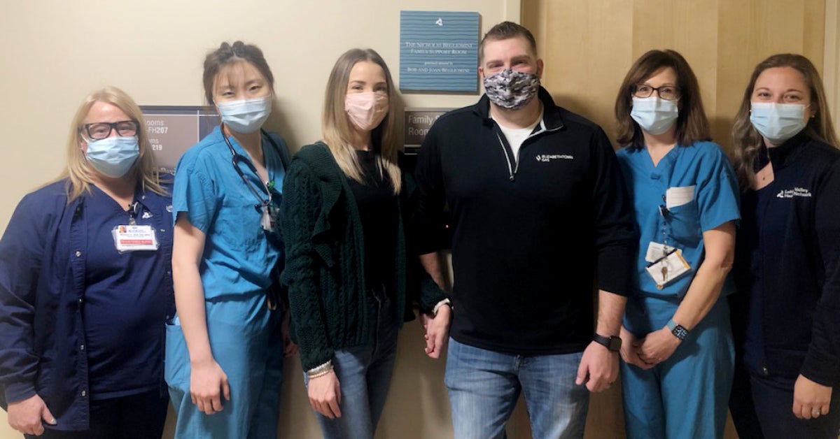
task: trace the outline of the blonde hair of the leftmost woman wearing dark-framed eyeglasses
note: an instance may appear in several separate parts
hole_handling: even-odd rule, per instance
[[[81,102],[79,109],[76,110],[76,116],[73,117],[73,122],[70,125],[70,134],[67,136],[67,164],[57,179],[67,180],[67,202],[76,200],[86,192],[91,193],[93,171],[85,154],[81,151],[81,141],[84,140],[81,137],[81,127],[85,123],[87,112],[91,110],[95,102],[106,102],[118,107],[131,120],[138,123],[137,138],[140,154],[134,161],[134,165],[131,166],[128,175],[133,175],[144,191],[149,190],[160,195],[166,195],[166,191],[160,186],[160,173],[155,166],[155,157],[151,152],[149,136],[146,133],[146,124],[143,113],[140,112],[140,107],[125,91],[114,86],[107,86],[87,95],[85,100]]]

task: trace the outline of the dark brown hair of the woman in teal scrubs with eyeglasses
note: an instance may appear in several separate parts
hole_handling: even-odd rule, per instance
[[[675,50],[649,50],[642,55],[627,76],[624,76],[621,88],[616,97],[616,119],[618,121],[617,142],[620,145],[633,144],[642,148],[644,138],[642,128],[630,117],[633,108],[633,91],[638,84],[654,76],[657,71],[670,67],[677,74],[677,84],[680,87],[680,115],[676,121],[677,144],[690,145],[701,140],[711,140],[709,135],[709,121],[703,111],[700,97],[700,85],[697,77],[685,58]]]

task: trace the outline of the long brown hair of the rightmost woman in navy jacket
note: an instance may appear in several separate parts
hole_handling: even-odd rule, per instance
[[[831,112],[828,111],[826,91],[822,86],[822,79],[820,79],[820,74],[811,64],[811,61],[805,56],[796,54],[770,56],[755,66],[753,76],[750,77],[747,89],[743,92],[741,107],[738,109],[738,115],[735,117],[735,123],[732,126],[733,162],[742,191],[752,187],[753,180],[755,180],[753,163],[755,163],[761,149],[764,148],[764,138],[753,127],[753,123],[749,122],[753,88],[755,88],[755,81],[759,79],[761,72],[774,67],[792,67],[805,78],[805,83],[811,92],[811,108],[816,112],[813,118],[808,119],[808,124],[803,130],[808,137],[824,144],[830,144],[835,148],[840,146],[837,144],[837,134],[834,133]]]

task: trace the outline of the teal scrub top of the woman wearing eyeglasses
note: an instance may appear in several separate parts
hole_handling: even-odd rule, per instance
[[[633,200],[639,233],[636,292],[680,301],[703,261],[703,232],[740,219],[738,180],[732,165],[720,146],[711,142],[677,145],[656,166],[647,148],[633,145],[617,151],[617,158]],[[672,206],[666,208],[669,188],[682,189],[671,191]],[[681,200],[676,199],[678,192]],[[693,196],[688,195],[691,192]],[[646,270],[650,263],[645,256],[651,242],[680,248],[691,267],[661,290]],[[732,282],[727,280],[722,295],[731,292]]]

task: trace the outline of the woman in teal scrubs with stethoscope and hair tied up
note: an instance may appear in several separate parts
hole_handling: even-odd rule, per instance
[[[176,168],[166,382],[176,437],[277,436],[283,354],[277,273],[288,152],[263,131],[274,76],[255,45],[223,43],[204,60],[204,91],[221,123]]]

